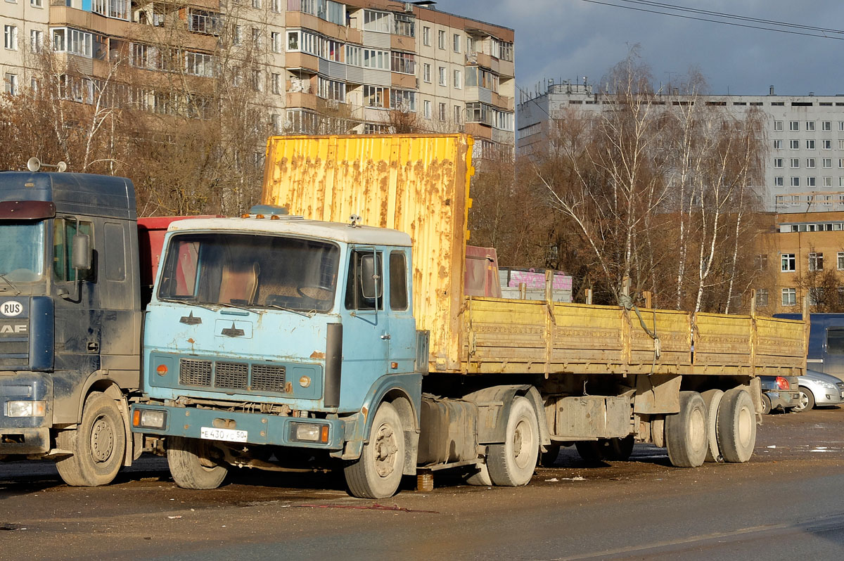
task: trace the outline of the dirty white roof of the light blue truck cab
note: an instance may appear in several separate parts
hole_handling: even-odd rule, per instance
[[[269,218],[192,218],[176,220],[168,232],[226,230],[248,234],[298,235],[333,240],[347,244],[410,245],[410,236],[396,229],[350,226],[339,222],[305,220],[282,216]]]

